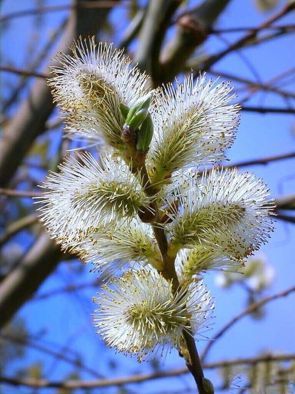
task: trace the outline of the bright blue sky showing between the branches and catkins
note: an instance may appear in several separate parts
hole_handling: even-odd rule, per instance
[[[68,1],[48,0],[46,2],[47,5],[61,3],[65,4]],[[280,6],[284,3],[284,1],[280,1]],[[253,4],[253,1],[250,0],[233,0],[227,11],[219,19],[216,27],[257,26],[270,14],[259,13]],[[36,6],[36,1],[33,0],[22,2],[3,0],[2,14],[34,6]],[[274,12],[278,9],[279,7]],[[44,16],[40,27],[41,34],[38,42],[36,42],[38,48],[44,45],[44,37],[48,36],[59,25],[66,14],[66,11],[64,11]],[[124,11],[114,12],[111,20],[117,28],[116,39],[118,42],[124,27]],[[32,21],[33,17],[15,19],[9,25],[9,29],[3,32],[3,62],[11,60],[16,67],[25,68],[24,62],[28,58],[26,48],[32,32]],[[292,22],[294,22],[294,19],[290,15],[282,19],[280,24]],[[225,37],[230,41],[235,41],[241,34],[227,34]],[[243,50],[243,56],[246,56],[248,62],[255,67],[261,81],[267,82],[294,65],[295,50],[294,45],[292,46],[292,39],[294,44],[294,34],[293,36],[290,34],[285,38],[275,39],[268,44]],[[224,47],[224,43],[216,37],[212,37],[208,40],[205,49],[209,53],[214,53],[222,47]],[[218,62],[213,69],[256,80],[257,75],[256,77],[253,76],[249,63],[245,64],[245,60],[234,53]],[[15,76],[12,74],[3,74],[2,80],[4,78],[12,83],[15,81]],[[34,80],[32,79],[30,82],[33,83]],[[284,89],[294,91],[294,86],[293,80],[293,83],[285,86]],[[4,89],[5,87],[3,87],[2,94],[5,97]],[[25,91],[24,95],[26,94]],[[240,96],[242,97],[242,94]],[[259,93],[254,95],[253,99],[247,102],[247,105],[284,106],[285,102],[274,94]],[[290,115],[261,115],[242,112],[236,142],[228,151],[227,156],[232,163],[236,163],[241,160],[292,152],[295,150],[295,138],[292,134],[293,125],[294,117]],[[254,171],[259,177],[262,177],[269,185],[274,197],[291,194],[295,191],[294,160],[276,162],[266,166],[251,166],[245,168],[245,170]],[[268,263],[274,267],[276,272],[274,284],[266,294],[276,293],[294,285],[294,240],[295,226],[278,221],[276,231],[271,236],[269,243],[261,248],[259,254],[266,256]],[[27,238],[18,239],[18,242],[25,243]],[[81,270],[79,274],[77,274],[77,269],[71,269],[71,266],[75,267],[78,264],[80,263],[62,263],[57,272],[41,286],[38,294],[45,293],[50,289],[58,289],[66,284],[84,283],[95,278],[95,274],[89,273],[87,268]],[[246,295],[243,289],[237,286],[229,290],[218,288],[214,284],[214,274],[206,275],[205,282],[216,299],[215,325],[209,332],[209,335],[213,336],[214,332],[217,332],[229,319],[244,308]],[[103,375],[110,375],[109,362],[111,360],[118,363],[116,370],[111,372],[115,376],[150,370],[150,364],[137,364],[135,359],[125,358],[122,355],[115,356],[115,351],[106,350],[91,326],[90,313],[94,309],[91,297],[94,295],[95,289],[91,288],[79,292],[79,295],[69,293],[66,296],[53,296],[46,300],[32,300],[20,310],[19,314],[26,319],[32,333],[37,334],[44,328],[46,329],[40,343],[49,344],[49,346],[57,349],[58,347],[51,345],[51,343],[59,343],[62,346],[70,346],[75,351],[82,352],[85,364]],[[213,345],[207,361],[250,357],[261,351],[271,349],[277,352],[294,352],[294,300],[295,295],[290,295],[286,299],[279,299],[267,305],[264,320],[255,321],[250,317],[243,318],[218,343]],[[205,346],[204,341],[198,344],[200,353]],[[67,371],[71,371],[71,366],[68,364],[62,361],[53,361],[53,359],[40,352],[28,349],[26,360],[15,362],[11,365],[7,374],[13,374],[15,369],[22,367],[25,363],[34,361],[44,363],[44,371],[49,373],[47,377],[51,380],[62,379]],[[162,364],[162,361],[160,363]],[[179,359],[176,351],[167,356],[165,368],[181,365],[183,365],[183,362]],[[208,376],[211,375],[208,374]],[[92,378],[87,373],[83,374],[82,377]],[[166,390],[167,387],[174,387],[175,390],[179,388],[184,393],[187,387],[193,387],[193,380],[189,375],[185,375],[181,378],[151,381],[144,384],[140,388],[140,392],[155,393],[160,387],[163,390]],[[31,390],[21,388],[7,387],[5,390],[7,394],[31,393]],[[134,389],[135,392],[137,390]],[[42,391],[38,392],[41,393]],[[98,393],[99,391],[94,392]],[[100,393],[115,392],[115,389],[100,391]]]

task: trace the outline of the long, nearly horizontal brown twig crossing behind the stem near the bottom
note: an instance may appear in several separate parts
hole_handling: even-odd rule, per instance
[[[204,364],[204,369],[215,369],[233,365],[255,365],[264,361],[291,361],[295,360],[295,354],[271,355],[266,354],[256,358],[239,358],[227,361],[217,361]],[[97,387],[121,386],[129,383],[140,383],[148,380],[167,378],[171,376],[178,376],[188,373],[187,368],[174,368],[167,371],[156,371],[149,373],[135,374],[131,376],[123,376],[112,379],[99,380],[68,380],[66,382],[52,382],[46,379],[17,379],[7,376],[0,376],[0,382],[7,383],[13,386],[27,386],[37,388],[66,388],[66,389],[90,389]]]

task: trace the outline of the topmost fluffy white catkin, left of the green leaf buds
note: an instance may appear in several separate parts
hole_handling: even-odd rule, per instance
[[[68,112],[71,136],[103,139],[118,151],[124,150],[121,130],[124,119],[120,106],[132,107],[149,92],[148,76],[141,73],[122,50],[112,44],[95,44],[94,37],[75,41],[72,54],[59,53],[60,66],[49,80],[54,100]]]

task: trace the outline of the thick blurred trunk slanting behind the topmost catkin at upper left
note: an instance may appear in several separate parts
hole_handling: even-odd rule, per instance
[[[89,2],[89,1],[88,1]],[[78,0],[78,5],[83,0]],[[108,13],[107,9],[73,9],[69,17],[65,33],[59,49],[69,53],[68,45],[79,34],[83,36],[96,34]],[[49,66],[54,66],[55,61]],[[43,74],[47,74],[48,67]],[[41,73],[42,74],[42,73]],[[0,187],[6,186],[14,176],[18,166],[29,151],[38,135],[45,131],[45,122],[54,109],[50,88],[46,81],[38,80],[33,86],[29,97],[25,99],[18,112],[3,133],[1,141]]]

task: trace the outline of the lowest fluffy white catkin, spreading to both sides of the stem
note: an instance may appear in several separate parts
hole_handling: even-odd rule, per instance
[[[172,294],[170,283],[155,270],[128,271],[113,278],[96,299],[94,327],[110,346],[148,360],[164,347],[179,347],[182,330],[207,329],[213,304],[201,282]]]

